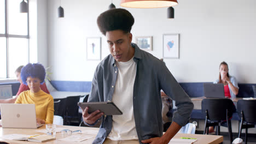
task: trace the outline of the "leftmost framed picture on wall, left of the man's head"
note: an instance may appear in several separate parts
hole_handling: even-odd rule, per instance
[[[86,38],[87,60],[101,60],[101,37]]]

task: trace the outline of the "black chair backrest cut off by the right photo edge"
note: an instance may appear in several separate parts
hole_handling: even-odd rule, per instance
[[[245,116],[244,121],[248,123],[256,123],[256,100],[238,100],[237,101],[237,113],[241,118],[241,112]]]

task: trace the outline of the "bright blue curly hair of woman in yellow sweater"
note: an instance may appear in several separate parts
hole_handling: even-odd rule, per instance
[[[44,83],[45,79],[45,69],[42,64],[39,63],[28,63],[25,67],[21,69],[21,80],[27,85],[27,77],[38,78],[40,80],[40,84]]]

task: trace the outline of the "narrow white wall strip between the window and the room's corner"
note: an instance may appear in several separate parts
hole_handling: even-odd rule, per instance
[[[30,1],[30,62],[48,67],[48,0]]]

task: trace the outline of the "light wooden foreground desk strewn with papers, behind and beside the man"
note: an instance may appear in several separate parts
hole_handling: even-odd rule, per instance
[[[63,129],[70,129],[70,130],[97,130],[98,128],[89,128],[89,127],[73,127],[73,126],[67,126],[67,125],[57,125],[57,128],[63,128]],[[38,129],[11,129],[11,128],[0,128],[0,137],[3,135],[8,135],[8,134],[26,134],[26,135],[33,135],[33,134],[43,134],[39,133],[36,130],[39,129],[45,129],[45,126],[40,127]],[[86,135],[86,134],[81,134],[81,135]],[[223,142],[223,136],[217,136],[217,135],[193,135],[193,134],[176,134],[174,138],[178,139],[179,137],[193,137],[196,138],[197,141],[195,144],[201,144],[201,143],[211,143],[211,144],[217,144],[220,142]],[[53,141],[48,141],[48,142],[43,142],[43,143],[92,143],[94,141],[94,138],[85,140],[82,142],[65,142],[65,141],[58,141],[58,139],[62,139],[61,133],[56,133],[56,140]],[[14,144],[20,144],[20,143],[40,143],[40,142],[31,142],[31,141],[16,141],[16,140],[3,140],[0,138],[0,141],[5,141],[8,143],[14,143]]]

